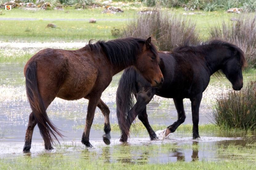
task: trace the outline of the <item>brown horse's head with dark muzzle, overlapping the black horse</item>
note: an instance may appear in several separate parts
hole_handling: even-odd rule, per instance
[[[158,62],[159,56],[157,49],[151,43],[151,37],[149,37],[145,41],[145,44],[142,44],[142,52],[138,55],[134,66],[153,87],[162,85],[164,81]]]

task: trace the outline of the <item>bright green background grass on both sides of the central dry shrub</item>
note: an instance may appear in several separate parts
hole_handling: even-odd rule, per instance
[[[136,10],[135,10],[136,9]],[[111,35],[113,27],[122,29],[125,22],[134,17],[142,8],[129,9],[124,13],[102,14],[101,8],[74,10],[65,8],[59,10],[39,10],[29,11],[22,9],[13,9],[5,11],[5,15],[0,18],[34,18],[38,20],[18,21],[4,20],[0,22],[0,40],[2,41],[88,41],[94,39],[114,39]],[[69,11],[69,13],[65,13]],[[177,15],[182,15],[182,8],[172,9]],[[186,12],[187,14],[189,12]],[[196,28],[203,40],[207,40],[209,28],[211,25],[221,24],[223,20],[229,20],[230,17],[236,17],[235,14],[226,13],[224,11],[204,12],[194,11],[195,15],[187,17],[196,22]],[[89,24],[89,18],[94,17],[100,19],[96,24]],[[42,19],[52,19],[45,21]],[[85,21],[59,21],[57,19],[85,19]],[[46,25],[53,23],[57,25],[56,29],[47,29]],[[98,29],[99,27],[100,29]],[[27,31],[26,31],[27,30]]]

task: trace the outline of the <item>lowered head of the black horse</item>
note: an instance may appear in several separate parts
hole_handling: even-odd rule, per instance
[[[241,90],[243,87],[242,69],[246,66],[246,60],[243,51],[234,44],[227,43],[230,50],[229,57],[222,65],[222,72],[232,83],[234,90]],[[225,52],[224,52],[225,53]]]

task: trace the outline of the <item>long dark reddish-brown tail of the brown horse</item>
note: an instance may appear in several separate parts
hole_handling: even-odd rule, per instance
[[[62,137],[62,134],[58,132],[58,129],[54,126],[46,114],[46,108],[38,90],[36,61],[32,61],[28,65],[25,77],[27,98],[30,103],[35,121],[37,122],[40,134],[45,142],[46,149],[51,149],[47,147],[50,147],[51,144],[54,145],[53,138],[58,141],[56,134],[60,137]],[[58,143],[60,144],[59,141]]]

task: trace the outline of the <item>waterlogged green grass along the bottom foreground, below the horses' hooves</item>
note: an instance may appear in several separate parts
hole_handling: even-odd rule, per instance
[[[71,145],[72,146],[72,145]],[[67,146],[66,148],[69,148]],[[217,146],[217,161],[204,160],[200,149],[204,145],[115,145],[96,149],[66,148],[57,153],[24,154],[0,159],[0,169],[255,169],[255,145]],[[74,148],[72,148],[74,149]],[[75,149],[74,149],[75,150]],[[192,150],[192,156],[183,152]],[[190,153],[191,154],[191,153]],[[232,157],[230,158],[230,156]],[[152,161],[162,156],[166,161]],[[198,157],[199,156],[199,157]],[[200,157],[201,156],[201,157]],[[174,158],[174,159],[173,159]],[[202,161],[198,161],[198,160]],[[189,160],[189,161],[188,161]]]

